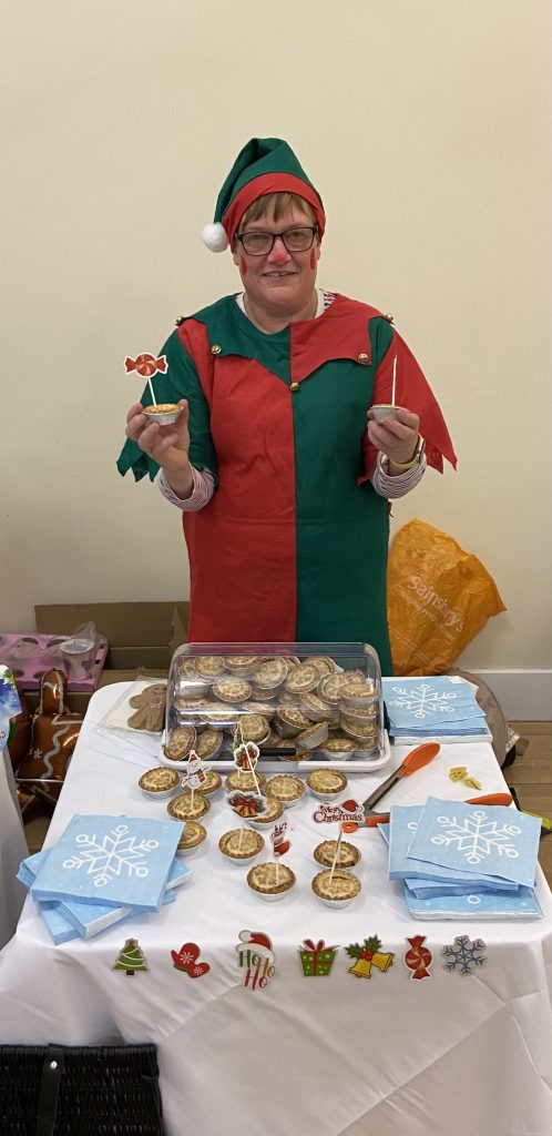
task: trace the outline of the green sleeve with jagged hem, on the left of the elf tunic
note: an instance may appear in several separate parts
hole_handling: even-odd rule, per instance
[[[178,402],[179,399],[187,399],[190,461],[196,469],[210,469],[216,477],[217,461],[209,428],[209,407],[201,390],[195,364],[181,342],[177,331],[173,332],[160,353],[167,357],[167,371],[154,377],[157,401]],[[151,402],[149,386],[144,389],[141,402],[142,406]],[[159,466],[128,438],[119,454],[117,469],[123,476],[132,469],[136,482],[147,475],[153,481]]]

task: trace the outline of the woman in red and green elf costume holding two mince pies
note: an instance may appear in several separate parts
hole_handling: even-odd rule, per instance
[[[361,641],[392,674],[388,500],[455,457],[391,317],[316,289],[325,224],[287,143],[248,142],[203,231],[244,291],[178,320],[156,390],[182,414],[132,407],[118,468],[182,510],[191,642]],[[394,368],[404,409],[378,424]]]

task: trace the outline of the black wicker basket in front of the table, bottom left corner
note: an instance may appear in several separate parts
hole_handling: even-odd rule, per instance
[[[0,1045],[2,1136],[164,1136],[154,1045]]]

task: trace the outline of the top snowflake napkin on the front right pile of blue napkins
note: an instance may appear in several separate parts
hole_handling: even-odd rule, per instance
[[[493,875],[513,884],[535,883],[541,821],[504,805],[463,804],[429,796],[407,857],[432,871]]]

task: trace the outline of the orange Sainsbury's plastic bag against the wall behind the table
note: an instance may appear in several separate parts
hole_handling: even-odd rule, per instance
[[[448,533],[418,519],[399,531],[387,568],[395,675],[442,675],[505,610],[487,569]]]

